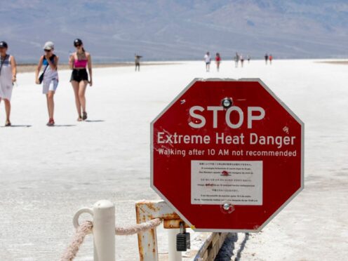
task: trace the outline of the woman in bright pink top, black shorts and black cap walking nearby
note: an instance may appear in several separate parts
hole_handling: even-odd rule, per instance
[[[69,58],[69,67],[72,69],[72,76],[70,82],[72,83],[72,88],[74,89],[75,103],[77,109],[77,121],[84,121],[87,119],[86,112],[86,88],[87,83],[90,86],[93,85],[92,81],[92,58],[91,54],[86,52],[83,48],[83,43],[81,39],[74,40],[74,46],[76,52],[72,53]],[[88,65],[88,74],[87,67]]]

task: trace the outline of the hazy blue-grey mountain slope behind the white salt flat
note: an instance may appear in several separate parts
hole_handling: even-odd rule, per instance
[[[97,62],[196,60],[206,51],[262,58],[348,56],[346,0],[14,0],[0,6],[0,40],[19,62],[45,41],[67,62],[78,37]]]

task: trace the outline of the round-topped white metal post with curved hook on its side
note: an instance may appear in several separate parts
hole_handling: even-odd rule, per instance
[[[93,216],[94,261],[115,261],[115,206],[101,200],[93,208],[81,208],[74,215],[74,227],[79,227],[79,216],[89,213]]]

